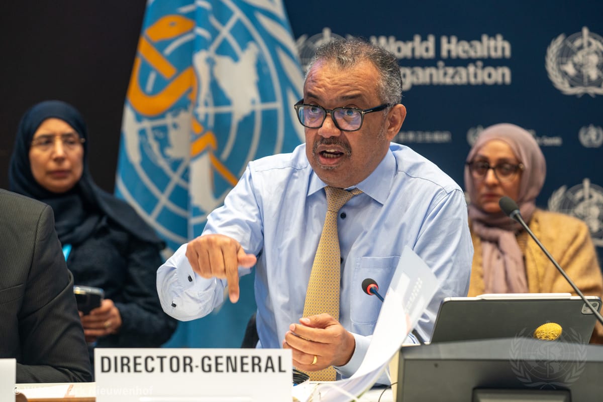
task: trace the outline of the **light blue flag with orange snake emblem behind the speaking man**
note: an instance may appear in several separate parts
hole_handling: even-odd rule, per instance
[[[203,231],[252,159],[303,141],[292,105],[303,73],[281,0],[150,0],[122,122],[116,194],[166,241]],[[255,310],[241,299],[181,323],[168,345],[238,347]]]

